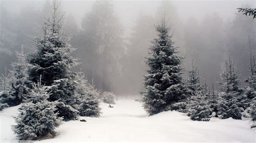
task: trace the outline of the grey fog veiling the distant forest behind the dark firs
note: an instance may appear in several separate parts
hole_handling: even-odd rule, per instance
[[[4,73],[22,45],[26,53],[35,52],[32,41],[42,37],[48,10],[46,1],[1,0],[0,5],[0,73]],[[255,8],[255,1],[61,1],[63,29],[77,48],[72,56],[81,62],[73,70],[81,68],[96,88],[116,94],[143,90],[144,58],[156,38],[154,25],[163,16],[186,57],[184,79],[194,59],[203,82],[218,89],[220,65],[231,56],[244,81],[250,57],[256,53],[256,21],[238,13],[240,7]]]

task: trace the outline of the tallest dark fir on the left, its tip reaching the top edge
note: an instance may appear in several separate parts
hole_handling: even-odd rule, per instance
[[[59,4],[54,0],[49,6],[52,16],[45,19],[44,36],[36,38],[37,52],[30,54],[28,58],[29,79],[36,82],[42,75],[42,83],[51,87],[52,94],[48,100],[58,100],[65,104],[65,106],[56,105],[61,115],[61,112],[66,111],[64,107],[69,106],[68,109],[71,109],[71,105],[75,103],[75,73],[71,72],[70,68],[78,65],[78,62],[70,55],[75,49],[69,45],[69,39],[62,33],[63,15],[58,12]],[[61,107],[63,111],[60,111]]]

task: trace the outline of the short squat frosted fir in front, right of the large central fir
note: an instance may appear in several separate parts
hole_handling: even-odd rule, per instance
[[[204,95],[201,86],[202,85],[197,84],[194,87],[193,95],[189,99],[188,114],[192,120],[209,121],[212,109],[207,103],[207,97]]]

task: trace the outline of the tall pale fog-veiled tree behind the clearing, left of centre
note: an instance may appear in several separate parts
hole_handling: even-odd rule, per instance
[[[112,91],[117,77],[122,75],[120,59],[125,47],[123,29],[114,14],[110,1],[96,1],[82,19],[78,47],[79,57],[85,62],[85,76],[101,91]]]

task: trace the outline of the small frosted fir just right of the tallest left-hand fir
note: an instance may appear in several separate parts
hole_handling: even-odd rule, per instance
[[[99,91],[89,84],[82,71],[77,74],[78,111],[80,116],[99,117]]]

